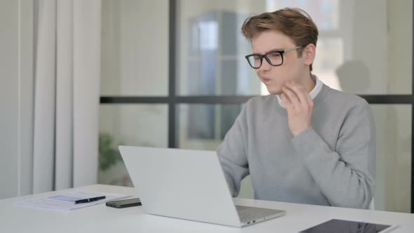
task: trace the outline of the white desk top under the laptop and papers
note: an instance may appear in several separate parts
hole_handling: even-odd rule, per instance
[[[134,195],[134,189],[130,187],[91,185],[76,189]],[[15,206],[16,202],[24,199],[61,192],[65,191],[0,200],[0,232],[299,232],[332,218],[399,225],[395,233],[414,232],[414,214],[251,199],[236,199],[236,204],[283,209],[287,213],[281,218],[236,228],[147,215],[142,206],[116,209],[100,204],[67,213]]]

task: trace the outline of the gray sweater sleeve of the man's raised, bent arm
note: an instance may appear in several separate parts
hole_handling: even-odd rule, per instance
[[[312,127],[292,142],[332,206],[368,208],[375,190],[375,124],[365,100],[349,108],[334,150]]]

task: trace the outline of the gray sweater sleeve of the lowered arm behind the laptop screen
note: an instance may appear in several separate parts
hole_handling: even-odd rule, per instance
[[[233,197],[240,191],[240,182],[249,174],[246,152],[246,107],[243,108],[232,128],[217,149],[218,159],[225,173],[227,184]]]

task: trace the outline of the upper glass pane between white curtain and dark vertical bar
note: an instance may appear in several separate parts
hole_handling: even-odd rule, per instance
[[[101,95],[168,95],[168,9],[164,0],[102,1]]]

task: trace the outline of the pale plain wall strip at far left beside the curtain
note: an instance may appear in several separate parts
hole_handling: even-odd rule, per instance
[[[0,1],[0,199],[32,192],[32,48],[32,1]]]

